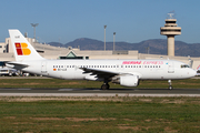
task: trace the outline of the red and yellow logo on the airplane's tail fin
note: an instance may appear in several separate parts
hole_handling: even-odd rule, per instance
[[[28,44],[24,42],[16,43],[16,50],[18,55],[29,55],[31,53],[30,49],[28,49]]]

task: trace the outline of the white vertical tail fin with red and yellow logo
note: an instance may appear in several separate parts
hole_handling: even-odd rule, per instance
[[[9,30],[16,61],[43,60],[19,30]]]

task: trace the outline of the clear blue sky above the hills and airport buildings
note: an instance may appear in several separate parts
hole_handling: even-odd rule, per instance
[[[160,35],[168,12],[174,11],[182,34],[176,40],[200,43],[200,0],[1,0],[0,42],[8,29],[19,29],[33,38],[30,23],[39,23],[40,42],[67,43],[78,38],[140,42],[166,39]]]

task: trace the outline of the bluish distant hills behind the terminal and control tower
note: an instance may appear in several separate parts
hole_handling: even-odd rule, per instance
[[[116,42],[116,51],[120,50],[138,50],[139,53],[147,53],[149,48],[150,54],[163,54],[167,55],[167,40],[164,39],[151,39],[139,43]],[[200,57],[200,43],[188,44],[182,41],[176,41],[176,55],[181,57]],[[80,48],[80,50],[104,50],[104,42],[88,38],[76,39],[72,42],[61,44],[58,42],[49,42],[54,47],[72,47]],[[113,50],[113,42],[107,42],[107,50]]]

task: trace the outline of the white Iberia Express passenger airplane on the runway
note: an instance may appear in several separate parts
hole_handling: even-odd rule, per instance
[[[23,72],[64,80],[101,81],[102,90],[109,82],[122,86],[138,86],[143,80],[189,79],[196,71],[174,60],[48,60],[42,58],[19,30],[9,30],[16,61],[8,62]]]

